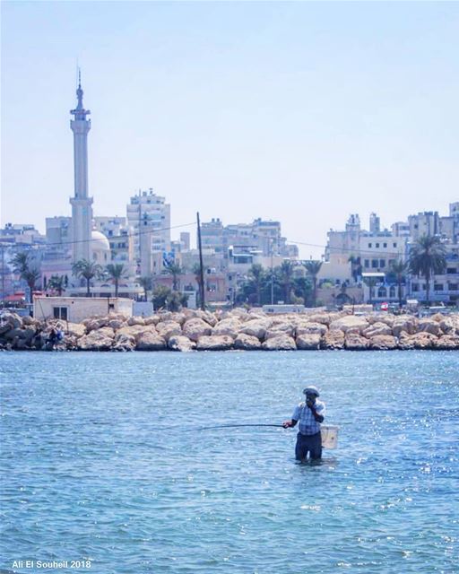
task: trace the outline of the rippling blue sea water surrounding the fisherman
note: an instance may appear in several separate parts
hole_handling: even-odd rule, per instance
[[[0,370],[2,572],[459,572],[457,352],[3,352]],[[281,423],[311,384],[340,426],[318,465],[294,430],[203,429]]]

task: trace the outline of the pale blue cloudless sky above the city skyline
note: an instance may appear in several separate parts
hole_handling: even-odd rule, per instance
[[[71,214],[78,65],[94,215],[152,187],[172,226],[276,220],[309,258],[350,213],[390,227],[459,201],[459,3],[1,10],[2,225]]]

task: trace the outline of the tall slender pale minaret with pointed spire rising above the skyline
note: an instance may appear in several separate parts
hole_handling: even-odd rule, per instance
[[[74,197],[72,204],[73,263],[81,259],[91,260],[92,197],[88,197],[88,132],[91,129],[91,114],[82,106],[82,81],[78,74],[78,103],[70,113],[74,119],[70,127],[74,132]]]

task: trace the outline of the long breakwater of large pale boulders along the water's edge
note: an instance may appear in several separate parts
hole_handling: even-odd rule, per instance
[[[50,343],[53,329],[63,337]],[[81,324],[44,323],[4,313],[0,349],[56,351],[308,351],[458,350],[459,314],[428,318],[312,311],[268,316],[259,309],[228,312],[184,309],[153,317],[111,314]]]

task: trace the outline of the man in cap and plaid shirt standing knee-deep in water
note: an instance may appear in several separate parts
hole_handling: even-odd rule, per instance
[[[303,393],[306,395],[306,401],[299,403],[290,421],[282,423],[284,429],[288,429],[299,422],[295,457],[301,462],[307,459],[307,452],[311,460],[322,458],[320,423],[324,422],[325,415],[325,403],[317,401],[319,396],[317,387],[306,387]]]

